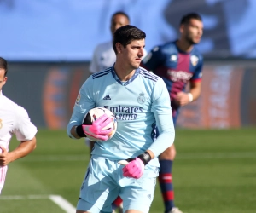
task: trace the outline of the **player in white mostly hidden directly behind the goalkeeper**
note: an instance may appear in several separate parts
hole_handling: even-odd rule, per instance
[[[110,66],[113,66],[113,63],[116,60],[116,55],[113,51],[113,33],[120,27],[130,24],[130,18],[128,14],[125,14],[122,11],[114,13],[111,17],[110,31],[112,40],[106,43],[100,43],[96,46],[96,49],[93,53],[93,58],[90,62],[90,72],[96,73],[107,69]],[[94,146],[94,141],[87,140],[90,143],[90,151]],[[122,212],[122,199],[119,197],[114,200],[112,204],[113,213],[115,210],[119,209],[119,212]]]

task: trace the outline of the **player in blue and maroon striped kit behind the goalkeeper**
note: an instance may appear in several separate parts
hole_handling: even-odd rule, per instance
[[[201,40],[203,23],[199,14],[187,14],[180,23],[181,36],[177,41],[154,47],[142,66],[163,78],[169,91],[173,122],[176,124],[179,107],[195,101],[201,93],[202,55],[195,48]],[[189,92],[185,92],[189,83]],[[160,154],[160,187],[166,213],[182,213],[174,205],[172,162],[176,156],[174,144]]]

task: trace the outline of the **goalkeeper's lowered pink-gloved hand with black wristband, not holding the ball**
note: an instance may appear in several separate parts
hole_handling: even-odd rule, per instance
[[[148,152],[140,154],[137,158],[120,160],[119,164],[125,165],[123,175],[126,177],[140,178],[143,176],[145,165],[151,160]]]

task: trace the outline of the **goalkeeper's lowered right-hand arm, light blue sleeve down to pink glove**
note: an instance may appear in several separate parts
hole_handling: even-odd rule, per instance
[[[140,178],[146,164],[164,152],[167,147],[171,147],[174,141],[175,131],[172,121],[172,109],[166,84],[159,78],[153,93],[152,112],[156,119],[156,124],[160,130],[160,135],[151,144],[148,150],[137,158],[130,158],[119,161],[125,165],[123,174],[127,177]]]

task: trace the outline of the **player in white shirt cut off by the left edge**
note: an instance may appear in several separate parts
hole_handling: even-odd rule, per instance
[[[0,193],[4,185],[8,164],[31,153],[36,148],[37,128],[31,123],[24,108],[2,93],[7,81],[7,61],[0,57]],[[16,135],[20,145],[9,152],[9,141]]]

